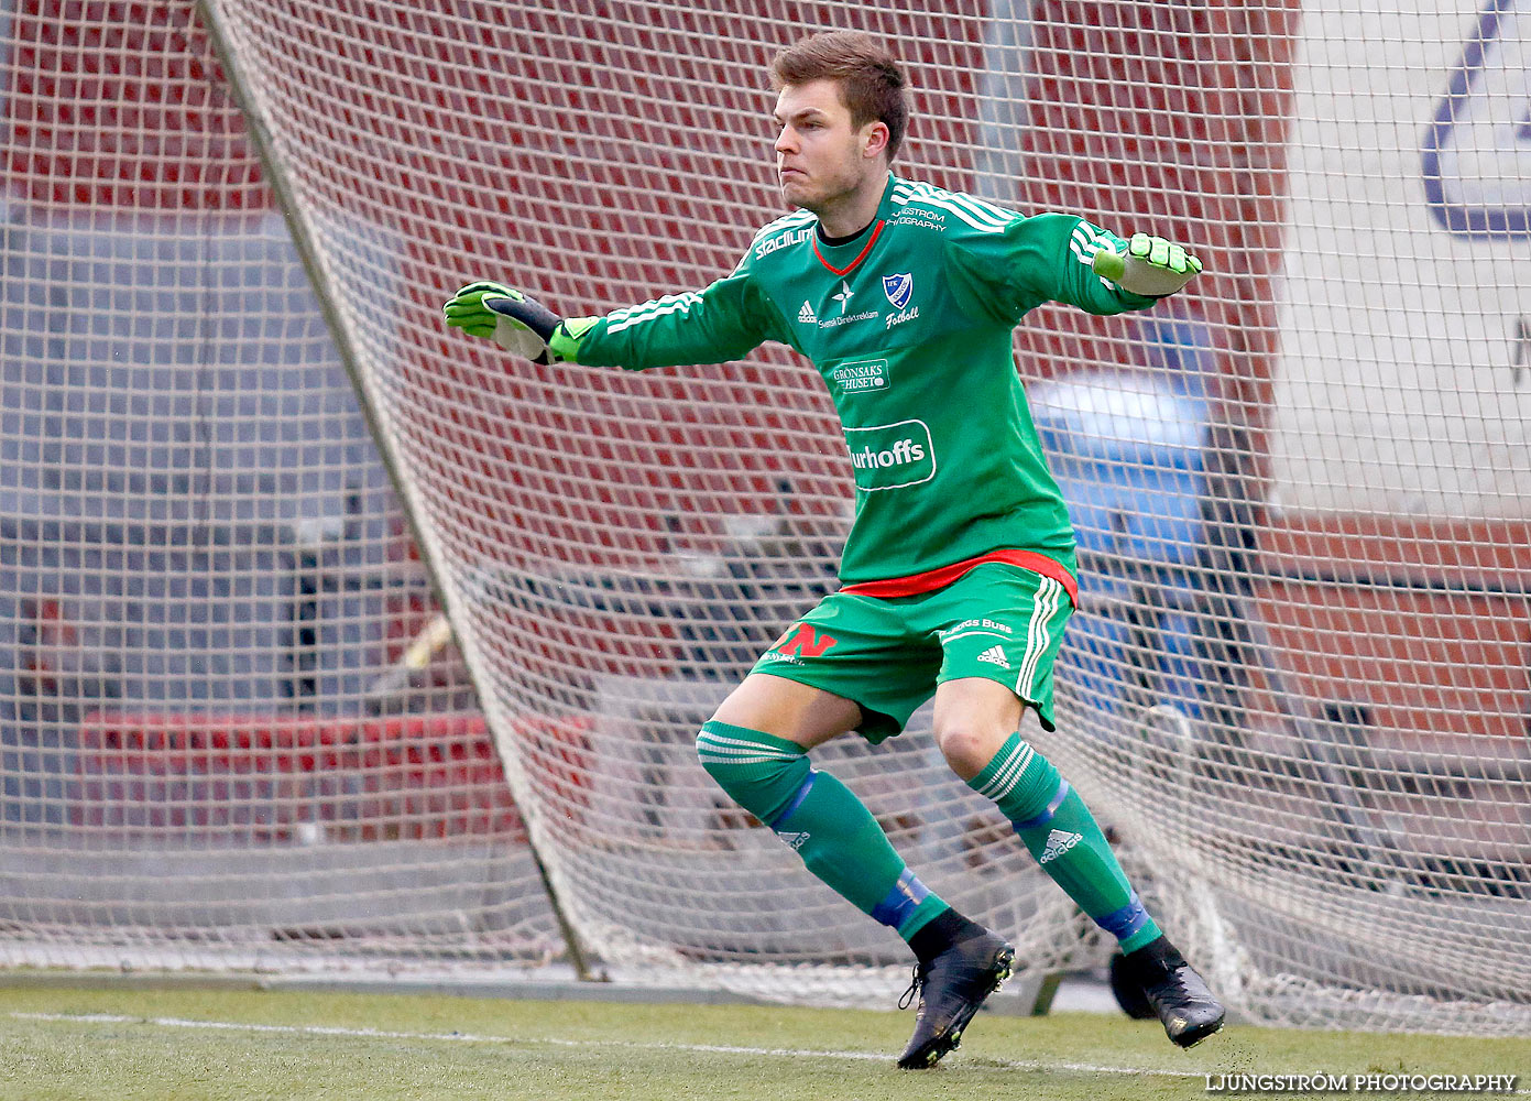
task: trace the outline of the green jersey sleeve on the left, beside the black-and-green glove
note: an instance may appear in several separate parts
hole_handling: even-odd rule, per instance
[[[628,371],[727,363],[779,338],[779,328],[775,308],[741,262],[701,291],[606,314],[580,340],[579,363]]]

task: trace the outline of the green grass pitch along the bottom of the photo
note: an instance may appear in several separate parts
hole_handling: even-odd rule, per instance
[[[0,1098],[201,1101],[1099,1101],[1216,1096],[1222,1073],[1511,1073],[1525,1040],[981,1014],[935,1070],[911,1014],[196,989],[0,988]],[[1288,1095],[1291,1096],[1291,1095]],[[1399,1096],[1399,1095],[1393,1095]],[[1410,1093],[1409,1096],[1431,1096]]]

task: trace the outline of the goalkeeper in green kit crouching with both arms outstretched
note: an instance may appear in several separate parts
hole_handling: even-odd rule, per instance
[[[994,799],[1058,885],[1115,936],[1170,1038],[1216,1032],[1223,1008],[1144,911],[1079,795],[1020,733],[1053,727],[1053,660],[1078,583],[1073,530],[1015,371],[1033,306],[1144,309],[1200,271],[1160,237],[1021,214],[893,175],[905,80],[873,38],[834,31],[773,66],[781,193],[703,291],[563,319],[470,283],[449,325],[542,361],[629,369],[743,358],[766,340],[805,355],[834,400],[856,476],[842,588],[767,649],[701,727],[707,772],[813,874],[916,956],[902,1067],[957,1047],[1014,949],[929,891],[876,819],[808,752],[899,733],[935,697],[952,770]]]

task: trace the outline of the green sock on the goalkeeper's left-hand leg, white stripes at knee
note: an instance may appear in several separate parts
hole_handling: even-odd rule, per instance
[[[724,792],[787,842],[808,871],[908,940],[948,910],[916,879],[856,795],[808,766],[805,750],[744,726],[710,721],[697,756]]]

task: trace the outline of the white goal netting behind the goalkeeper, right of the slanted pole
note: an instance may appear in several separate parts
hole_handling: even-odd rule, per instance
[[[1208,263],[1150,314],[1018,331],[1085,573],[1038,747],[1248,1015],[1531,1031],[1523,20],[900,8],[213,3],[576,926],[778,997],[902,978],[690,749],[834,583],[851,482],[811,369],[542,369],[439,322],[473,277],[580,314],[727,271],[779,213],[766,63],[860,26],[909,63],[908,175]],[[928,729],[822,764],[1032,966],[1098,959]]]

